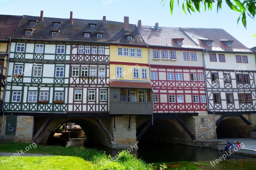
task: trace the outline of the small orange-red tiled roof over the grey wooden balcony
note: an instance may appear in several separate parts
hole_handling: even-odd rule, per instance
[[[109,87],[144,88],[144,89],[153,88],[149,82],[120,81],[120,80],[109,81]]]

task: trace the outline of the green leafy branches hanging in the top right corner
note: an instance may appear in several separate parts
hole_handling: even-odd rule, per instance
[[[167,0],[161,0],[161,3],[165,4]],[[168,0],[169,1],[169,0]],[[178,1],[178,5],[180,0]],[[243,26],[246,28],[246,14],[247,16],[254,19],[256,13],[256,0],[225,0],[226,4],[229,8],[233,11],[237,11],[240,13],[239,17],[237,18],[237,24],[239,21],[242,21]],[[187,12],[191,14],[192,12],[198,11],[200,13],[200,9],[204,6],[204,11],[206,9],[212,11],[212,6],[217,4],[217,12],[221,9],[221,4],[223,3],[222,0],[183,0],[182,3],[182,10],[185,14]],[[173,12],[173,5],[174,0],[170,0],[170,11],[171,14]],[[254,35],[256,36],[256,35]]]

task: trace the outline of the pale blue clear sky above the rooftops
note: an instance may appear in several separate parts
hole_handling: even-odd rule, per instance
[[[243,43],[246,47],[256,46],[256,20],[247,17],[247,29],[242,22],[237,25],[239,13],[222,4],[222,10],[217,14],[217,4],[213,10],[201,9],[201,13],[187,15],[182,6],[174,1],[173,15],[170,13],[169,0],[160,4],[161,0],[0,0],[0,14],[4,15],[30,15],[44,17],[69,18],[73,11],[73,18],[102,19],[124,22],[124,16],[129,17],[131,24],[137,24],[140,19],[142,25],[165,27],[192,27],[192,28],[222,28]],[[183,1],[180,1],[180,4]]]

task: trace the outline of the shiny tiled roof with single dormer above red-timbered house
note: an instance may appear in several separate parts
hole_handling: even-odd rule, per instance
[[[140,32],[144,41],[149,45],[200,48],[184,31],[180,28],[142,26]],[[178,45],[175,39],[184,39],[182,45]]]

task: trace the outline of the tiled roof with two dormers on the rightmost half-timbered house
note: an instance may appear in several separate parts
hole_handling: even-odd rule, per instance
[[[227,51],[227,52],[252,52],[241,42],[223,29],[217,28],[181,28],[199,46],[208,51]],[[212,41],[212,46],[207,46],[205,42]],[[225,41],[232,42],[232,47],[228,47]]]

